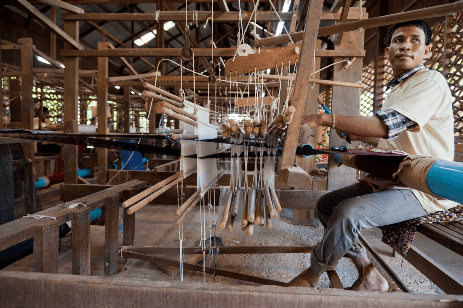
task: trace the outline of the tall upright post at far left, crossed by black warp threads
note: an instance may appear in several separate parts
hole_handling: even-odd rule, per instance
[[[32,39],[23,37],[20,39],[21,44],[21,121],[25,129],[34,129],[34,107],[32,100]],[[36,181],[36,172],[34,168],[34,143],[27,142],[23,144],[24,154],[29,164],[32,180]]]

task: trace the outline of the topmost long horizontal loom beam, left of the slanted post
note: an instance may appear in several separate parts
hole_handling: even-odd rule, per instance
[[[17,0],[18,1],[18,0]],[[242,12],[243,19],[249,19],[251,12]],[[186,12],[188,20],[196,20],[196,15],[193,17],[193,11]],[[282,18],[283,21],[291,21],[291,12],[257,12],[258,22],[277,22]],[[211,17],[211,12],[198,11],[198,22],[206,22],[207,18]],[[84,13],[84,14],[70,14],[64,13],[61,15],[63,20],[72,21],[153,21],[156,20],[155,13]],[[158,21],[180,21],[185,22],[185,12],[181,11],[160,11],[157,17]],[[238,22],[239,12],[214,12],[214,22]]]

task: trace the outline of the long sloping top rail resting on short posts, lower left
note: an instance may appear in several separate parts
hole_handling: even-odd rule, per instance
[[[146,182],[139,180],[132,180],[124,183],[123,185],[117,185],[110,187],[104,191],[99,191],[86,197],[73,200],[74,203],[85,203],[90,210],[97,209],[105,205],[105,198],[108,195],[122,194],[123,191],[129,188],[135,188],[137,190],[146,186]],[[56,217],[58,225],[71,220],[71,213],[73,209],[64,208],[63,205],[57,205],[49,209],[35,213],[36,215],[45,215]],[[16,245],[24,240],[33,237],[34,226],[43,225],[44,222],[51,221],[52,218],[34,219],[30,217],[22,217],[12,222],[7,222],[0,225],[0,251]]]

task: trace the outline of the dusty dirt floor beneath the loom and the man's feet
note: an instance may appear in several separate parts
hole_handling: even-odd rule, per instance
[[[224,189],[224,188],[222,188]],[[224,197],[221,191],[221,199]],[[225,195],[226,196],[226,195]],[[220,200],[223,203],[223,200]],[[213,202],[213,201],[212,201]],[[207,203],[207,201],[206,201]],[[173,222],[176,216],[173,214],[176,206],[150,205],[145,206],[136,213],[135,242],[137,247],[143,246],[179,246],[179,229],[174,227]],[[209,209],[206,205],[206,237],[209,238]],[[221,216],[221,206],[216,207],[216,217]],[[213,209],[211,209],[213,214]],[[241,214],[238,213],[239,218]],[[254,234],[248,236],[241,230],[241,220],[237,219],[231,233],[225,229],[216,229],[216,236],[223,240],[224,246],[315,246],[323,236],[323,227],[317,217],[312,226],[293,225],[293,210],[283,209],[279,217],[272,219],[272,228],[255,227]],[[213,222],[213,218],[211,218]],[[255,225],[256,226],[256,225]],[[413,292],[428,294],[444,294],[434,283],[430,282],[424,275],[417,271],[407,260],[392,256],[392,248],[381,242],[381,231],[378,228],[371,228],[362,231],[363,236],[380,253],[383,259],[392,267],[399,277],[413,290]],[[214,235],[211,229],[211,235]],[[183,223],[183,237],[185,246],[196,246],[200,240],[200,208],[196,206]],[[62,251],[59,253],[58,273],[72,274],[72,252],[70,250],[70,236],[62,239]],[[68,245],[66,245],[68,244]],[[103,272],[104,255],[104,227],[91,226],[91,274],[93,276],[105,276]],[[178,255],[166,256],[178,258]],[[193,255],[195,262],[202,259],[202,255]],[[371,256],[370,256],[371,257]],[[212,256],[206,255],[207,265],[214,266]],[[373,258],[370,258],[373,259]],[[157,281],[180,280],[180,275],[170,277],[149,262],[128,259],[127,270],[124,270],[125,259],[118,258],[118,273],[111,277],[127,277],[148,279]],[[375,263],[375,261],[373,261]],[[220,269],[243,272],[249,275],[268,277],[283,282],[288,282],[297,276],[301,271],[310,265],[309,253],[298,254],[219,254],[217,267]],[[382,270],[381,266],[375,266],[389,282],[389,291],[400,292],[392,279]],[[32,255],[6,267],[6,271],[32,271]],[[349,287],[357,279],[357,271],[349,258],[343,258],[338,263],[338,276],[344,287]],[[183,279],[186,281],[204,281],[204,275],[200,272],[185,270]],[[206,274],[207,282],[228,283],[228,284],[252,284],[227,277],[213,277]],[[326,274],[320,278],[320,288],[328,288],[329,280]]]

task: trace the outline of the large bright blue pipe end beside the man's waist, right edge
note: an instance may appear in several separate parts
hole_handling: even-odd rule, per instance
[[[439,160],[426,175],[426,184],[436,196],[463,203],[463,162]]]

